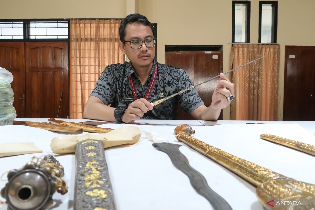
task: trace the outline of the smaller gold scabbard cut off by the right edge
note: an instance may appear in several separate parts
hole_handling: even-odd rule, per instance
[[[294,141],[291,139],[286,139],[286,138],[282,138],[280,136],[275,136],[272,134],[261,134],[260,135],[261,139],[265,139],[268,141],[272,141],[274,143],[280,144],[280,145],[284,145],[290,148],[293,148],[295,150],[299,150],[305,153],[308,153],[310,155],[315,156],[315,146],[314,145],[309,145],[309,144],[305,144],[303,142],[300,141]]]

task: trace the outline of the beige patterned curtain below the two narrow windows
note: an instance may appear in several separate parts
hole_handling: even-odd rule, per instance
[[[231,120],[278,120],[278,44],[233,44],[231,69],[266,56],[232,72],[235,99]]]

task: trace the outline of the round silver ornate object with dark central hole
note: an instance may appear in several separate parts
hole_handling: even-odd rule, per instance
[[[9,171],[9,182],[1,190],[8,210],[46,209],[53,204],[55,191],[62,195],[68,191],[67,184],[61,179],[64,168],[52,155],[45,156],[41,161],[33,160],[22,169]]]

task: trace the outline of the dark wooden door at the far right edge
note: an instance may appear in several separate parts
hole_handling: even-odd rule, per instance
[[[315,46],[285,46],[283,120],[314,121]]]

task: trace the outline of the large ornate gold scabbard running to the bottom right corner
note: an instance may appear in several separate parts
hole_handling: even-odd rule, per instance
[[[203,155],[236,173],[249,183],[257,186],[256,196],[266,209],[310,210],[315,207],[314,184],[296,181],[295,179],[275,173],[265,167],[259,166],[253,162],[249,162],[214,146],[206,144],[186,133],[177,134],[176,139],[184,142]],[[292,199],[295,200],[293,201]]]

